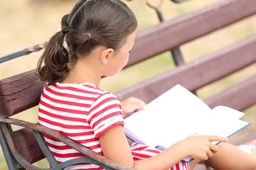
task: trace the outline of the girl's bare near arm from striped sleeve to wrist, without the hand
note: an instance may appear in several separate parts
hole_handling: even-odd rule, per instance
[[[156,157],[134,162],[122,125],[117,125],[100,135],[100,145],[105,157],[134,169],[169,169],[186,156],[180,154],[181,149],[178,145],[174,145]]]

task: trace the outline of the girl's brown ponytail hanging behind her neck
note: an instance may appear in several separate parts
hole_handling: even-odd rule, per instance
[[[66,27],[67,17],[68,15],[63,16],[62,27]],[[65,33],[63,31],[55,33],[38,60],[38,75],[41,81],[48,81],[49,86],[58,81],[63,81],[68,76],[68,63],[70,61],[68,50],[63,46],[64,37]]]

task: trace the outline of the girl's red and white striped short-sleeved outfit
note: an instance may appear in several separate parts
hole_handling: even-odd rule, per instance
[[[102,154],[99,136],[116,125],[124,125],[122,108],[110,92],[94,84],[53,84],[45,86],[39,103],[38,119],[43,126],[57,130],[72,140]],[[84,157],[75,149],[44,135],[50,151],[61,163]],[[159,150],[134,143],[131,148],[134,160],[159,154]],[[66,169],[102,169],[94,164],[78,164]],[[172,169],[189,169],[179,162]]]

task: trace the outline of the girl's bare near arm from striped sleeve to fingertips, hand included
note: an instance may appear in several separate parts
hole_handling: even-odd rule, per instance
[[[177,142],[154,157],[134,162],[122,125],[117,125],[100,135],[100,145],[105,157],[124,166],[145,170],[169,169],[185,157],[207,160],[213,153],[218,152],[218,146],[213,145],[212,141],[227,140],[218,136],[192,136]]]

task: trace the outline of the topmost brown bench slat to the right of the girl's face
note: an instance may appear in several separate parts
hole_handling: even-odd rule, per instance
[[[228,0],[139,33],[127,64],[146,60],[256,13],[255,0]]]

